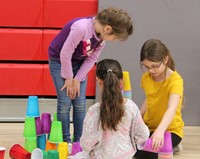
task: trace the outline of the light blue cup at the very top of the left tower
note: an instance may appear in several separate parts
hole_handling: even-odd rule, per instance
[[[38,102],[38,97],[37,96],[29,96],[28,97],[26,116],[29,116],[29,117],[38,117],[38,116],[40,116],[39,102]]]

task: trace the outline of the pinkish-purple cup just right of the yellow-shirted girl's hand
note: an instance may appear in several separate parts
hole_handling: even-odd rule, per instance
[[[172,148],[172,137],[170,132],[165,132],[164,134],[164,145],[160,152],[173,152]]]

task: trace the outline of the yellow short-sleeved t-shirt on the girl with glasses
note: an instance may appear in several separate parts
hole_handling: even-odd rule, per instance
[[[183,79],[181,76],[174,71],[164,82],[155,82],[147,72],[143,74],[141,82],[141,86],[146,95],[144,122],[149,127],[150,132],[155,131],[160,124],[168,107],[170,94],[180,95],[181,98],[176,114],[166,131],[175,133],[182,138],[184,122],[181,114],[183,98]]]

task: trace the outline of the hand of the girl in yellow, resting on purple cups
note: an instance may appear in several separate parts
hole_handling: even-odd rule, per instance
[[[158,151],[164,145],[164,132],[155,130],[151,135],[152,138],[152,148],[155,151]]]

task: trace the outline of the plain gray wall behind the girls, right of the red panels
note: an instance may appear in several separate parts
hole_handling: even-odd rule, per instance
[[[133,18],[135,31],[126,42],[109,42],[101,59],[114,57],[129,71],[133,100],[140,107],[144,100],[140,48],[149,38],[161,39],[185,82],[185,125],[200,125],[200,1],[99,0],[99,9],[110,6],[125,9]]]

